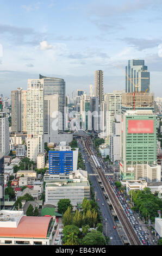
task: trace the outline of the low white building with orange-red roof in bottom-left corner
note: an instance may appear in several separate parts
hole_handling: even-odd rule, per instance
[[[51,216],[24,216],[23,211],[0,211],[0,245],[60,245],[59,225]]]

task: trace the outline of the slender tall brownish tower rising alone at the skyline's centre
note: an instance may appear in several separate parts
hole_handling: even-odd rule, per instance
[[[98,97],[99,105],[103,101],[103,71],[95,71],[95,97]]]

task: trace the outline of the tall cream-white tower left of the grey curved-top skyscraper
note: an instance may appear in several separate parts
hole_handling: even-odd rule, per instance
[[[43,129],[43,83],[39,79],[28,79],[27,89],[27,157],[36,162],[44,152]]]

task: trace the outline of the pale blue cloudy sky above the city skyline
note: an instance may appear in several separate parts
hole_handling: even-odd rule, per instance
[[[161,11],[161,0],[0,0],[0,94],[39,74],[89,93],[95,70],[104,93],[123,90],[128,60],[144,59],[162,97]]]

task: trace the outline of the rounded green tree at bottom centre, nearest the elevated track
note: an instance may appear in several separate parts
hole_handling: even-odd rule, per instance
[[[91,230],[86,236],[83,237],[83,245],[106,245],[106,241],[101,232]]]

